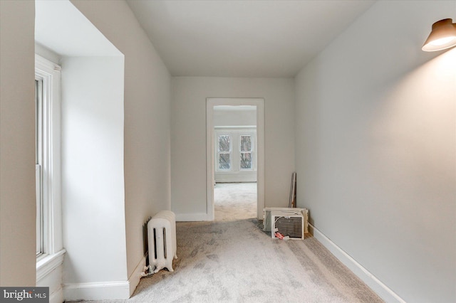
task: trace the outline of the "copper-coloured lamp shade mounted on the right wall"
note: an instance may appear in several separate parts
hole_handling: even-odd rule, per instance
[[[452,19],[443,19],[432,24],[432,31],[421,49],[435,51],[452,46],[456,46],[456,23],[452,23]]]

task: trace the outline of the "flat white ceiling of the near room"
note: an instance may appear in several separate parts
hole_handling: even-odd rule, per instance
[[[374,1],[127,0],[174,76],[294,77]]]

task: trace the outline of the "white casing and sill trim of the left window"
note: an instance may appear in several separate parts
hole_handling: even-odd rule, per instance
[[[36,285],[49,287],[49,302],[63,302],[63,249],[61,212],[61,67],[35,55],[35,78],[42,80],[41,198],[42,254],[36,259]]]

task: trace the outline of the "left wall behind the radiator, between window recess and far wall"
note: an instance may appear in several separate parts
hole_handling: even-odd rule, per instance
[[[71,2],[125,55],[127,270],[139,282],[142,223],[170,209],[170,74],[125,1]]]

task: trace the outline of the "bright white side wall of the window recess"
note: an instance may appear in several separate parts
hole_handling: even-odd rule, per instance
[[[63,282],[126,282],[123,57],[61,65]]]

